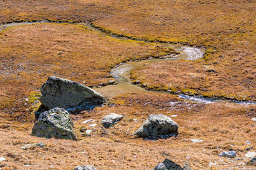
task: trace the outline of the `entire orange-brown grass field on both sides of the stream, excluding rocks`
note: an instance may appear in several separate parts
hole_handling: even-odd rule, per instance
[[[4,0],[0,24],[91,21],[115,35],[204,47],[203,59],[159,61],[133,70],[131,77],[148,83],[148,89],[256,101],[255,9],[253,0]],[[1,31],[0,157],[6,160],[0,167],[73,169],[84,164],[97,169],[152,169],[170,158],[193,169],[256,169],[244,164],[249,160],[244,150],[256,144],[256,123],[251,120],[256,117],[255,105],[198,104],[149,91],[124,93],[108,98],[110,105],[72,115],[79,141],[30,136],[38,89],[49,75],[99,86],[113,80],[109,71],[118,63],[157,57],[163,51],[154,43],[116,40],[75,24],[33,24]],[[125,118],[106,133],[100,121],[111,112]],[[149,114],[158,113],[178,115],[172,118],[179,125],[177,137],[146,141],[131,135]],[[88,119],[97,126],[81,124]],[[92,136],[83,136],[81,127],[92,129]],[[40,141],[45,148],[20,148]],[[239,160],[218,156],[228,150],[236,150]]]

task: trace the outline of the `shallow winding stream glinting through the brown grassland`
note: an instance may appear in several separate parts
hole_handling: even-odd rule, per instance
[[[10,24],[2,24],[0,25],[0,31],[3,29],[6,29],[7,27],[12,26],[20,26],[20,25],[28,25],[28,24],[37,24],[37,23],[49,23],[49,21],[36,21],[36,22],[14,22]],[[51,23],[51,22],[50,22]],[[89,30],[95,31],[99,33],[102,36],[111,36],[113,38],[117,38],[119,40],[131,40],[131,38],[125,38],[125,37],[119,37],[111,35],[111,33],[102,31],[101,29],[97,27],[93,27],[92,24],[89,22],[82,22],[82,23],[75,23],[80,24],[83,26],[88,27]],[[138,42],[145,42],[145,43],[152,43],[147,42],[145,40],[136,40]],[[194,60],[194,59],[200,59],[203,58],[205,49],[198,48],[198,47],[190,47],[188,45],[181,45],[181,44],[172,44],[172,43],[161,43],[161,42],[154,42],[156,45],[172,48],[175,49],[177,52],[179,52],[178,55],[170,55],[165,56],[162,59],[143,59],[140,61],[128,61],[126,63],[121,63],[118,66],[115,66],[115,68],[111,69],[111,75],[113,75],[113,78],[116,79],[117,84],[111,84],[108,86],[104,86],[102,88],[94,88],[97,92],[101,93],[105,97],[114,97],[116,95],[120,95],[125,92],[139,92],[139,91],[147,91],[145,88],[141,88],[140,86],[136,86],[132,84],[132,81],[130,79],[130,72],[133,69],[139,68],[140,66],[147,65],[156,61],[164,61],[164,60],[174,60],[174,59],[188,59],[188,60]],[[155,93],[165,93],[165,92],[159,92],[159,91],[152,91]],[[203,103],[203,104],[211,104],[214,102],[234,102],[237,104],[256,104],[256,102],[250,102],[250,101],[233,101],[233,100],[222,100],[222,99],[216,99],[216,98],[205,98],[205,97],[197,97],[197,96],[189,96],[189,95],[177,95],[179,98],[183,98],[185,100]]]

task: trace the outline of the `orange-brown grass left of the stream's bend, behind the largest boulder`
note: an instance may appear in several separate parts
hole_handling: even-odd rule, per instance
[[[71,24],[17,26],[0,34],[1,111],[33,120],[26,101],[49,75],[86,86],[108,84],[110,68],[129,59],[157,56],[154,44],[116,40]],[[17,113],[17,115],[16,115]]]

